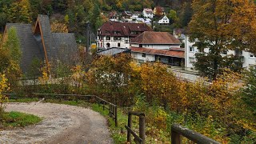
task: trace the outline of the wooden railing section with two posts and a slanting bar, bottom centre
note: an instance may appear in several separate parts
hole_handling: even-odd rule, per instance
[[[139,136],[131,130],[132,128],[132,115],[139,117]],[[127,142],[131,143],[131,134],[134,136],[134,142],[145,144],[146,130],[145,130],[145,114],[140,112],[130,111],[128,112],[128,126],[125,126],[127,130]]]

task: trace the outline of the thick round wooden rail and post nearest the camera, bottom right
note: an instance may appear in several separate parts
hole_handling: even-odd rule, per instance
[[[202,134],[199,134],[193,130],[187,129],[180,125],[174,124],[173,126],[171,126],[171,143],[172,144],[182,144],[182,136],[198,144],[219,144],[219,142],[216,142],[211,138],[207,138]]]

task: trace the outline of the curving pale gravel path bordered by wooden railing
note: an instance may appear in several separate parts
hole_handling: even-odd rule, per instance
[[[53,103],[9,103],[6,111],[43,118],[24,129],[0,131],[0,143],[113,143],[106,119],[93,110]]]

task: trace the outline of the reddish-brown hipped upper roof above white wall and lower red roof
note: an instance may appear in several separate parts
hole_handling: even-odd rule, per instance
[[[145,31],[130,41],[138,44],[181,44],[173,35],[167,32]]]

